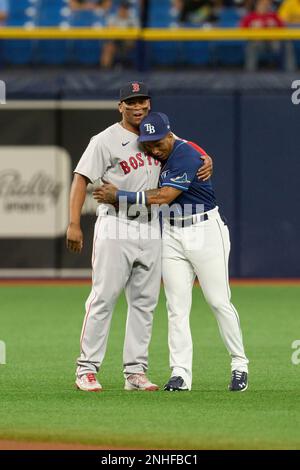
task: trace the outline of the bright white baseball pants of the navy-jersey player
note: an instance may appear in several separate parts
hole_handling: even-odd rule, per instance
[[[197,276],[204,297],[215,314],[231,370],[248,370],[239,316],[230,302],[228,258],[230,239],[218,208],[208,220],[190,227],[164,224],[162,272],[167,297],[169,351],[172,376],[192,387],[193,344],[189,323],[192,289]]]

